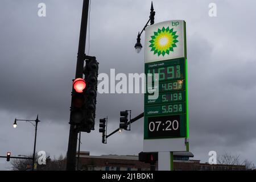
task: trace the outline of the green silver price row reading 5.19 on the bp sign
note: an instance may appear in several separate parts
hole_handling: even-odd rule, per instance
[[[156,100],[148,100],[148,95],[144,96],[145,104],[162,104],[167,102],[182,102],[185,101],[185,91],[178,92],[163,92],[160,93]]]

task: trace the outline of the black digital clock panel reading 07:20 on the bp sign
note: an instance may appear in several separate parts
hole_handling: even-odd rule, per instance
[[[147,118],[147,137],[184,137],[182,128],[185,125],[184,115],[167,115]]]

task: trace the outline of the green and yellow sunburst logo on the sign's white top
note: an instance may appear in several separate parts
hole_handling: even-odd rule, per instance
[[[158,56],[164,56],[166,53],[169,55],[171,51],[174,52],[174,47],[177,47],[176,43],[179,42],[176,32],[174,28],[163,27],[162,30],[158,28],[158,31],[154,32],[154,35],[151,36],[151,40],[149,41],[151,43],[149,46],[151,47],[150,51],[154,51],[154,55],[157,53]]]

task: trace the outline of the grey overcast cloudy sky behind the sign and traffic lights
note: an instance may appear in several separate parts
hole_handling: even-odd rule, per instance
[[[46,3],[46,17],[38,4]],[[217,17],[209,17],[209,3]],[[100,1],[90,6],[90,44],[99,73],[143,73],[144,54],[134,49],[148,20],[150,0]],[[208,152],[230,152],[256,164],[256,2],[154,1],[155,23],[187,22],[189,142],[194,159]],[[65,155],[69,106],[75,77],[82,0],[1,0],[0,3],[0,155],[32,154],[34,127],[15,118],[39,114],[36,150]],[[142,45],[144,43],[142,34]],[[87,39],[88,40],[88,39]],[[108,116],[108,131],[119,127],[119,111],[143,112],[143,94],[98,94],[96,130],[82,133],[82,151],[91,155],[138,155],[143,150],[143,119],[131,131],[101,143],[98,119]],[[9,169],[0,158],[0,169]]]

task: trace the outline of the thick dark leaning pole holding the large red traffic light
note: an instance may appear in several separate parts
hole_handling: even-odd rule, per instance
[[[89,9],[89,0],[84,0],[82,5],[79,49],[77,53],[76,78],[82,78],[82,71],[84,69],[88,9]],[[77,147],[78,133],[79,133],[79,130],[77,129],[76,125],[71,125],[69,130],[69,140],[68,140],[67,168],[66,168],[67,171],[75,171],[76,169],[76,147]]]

